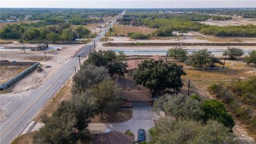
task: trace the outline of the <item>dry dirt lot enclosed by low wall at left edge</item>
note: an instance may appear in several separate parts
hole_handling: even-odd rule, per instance
[[[0,67],[0,83],[8,81],[10,78],[21,73],[21,71],[27,69],[30,65],[25,66],[1,66]]]

